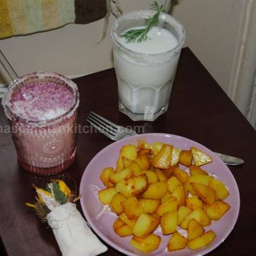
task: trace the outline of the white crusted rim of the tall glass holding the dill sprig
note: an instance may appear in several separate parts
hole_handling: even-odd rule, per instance
[[[140,13],[140,12],[154,14],[156,11],[154,11],[154,10],[135,10],[135,11],[124,13],[123,15],[118,17],[118,19],[116,19],[113,22],[113,25],[112,25],[112,28],[111,28],[111,37],[112,37],[113,42],[115,42],[115,44],[124,48],[125,51],[131,52],[132,54],[137,54],[138,56],[161,56],[161,55],[170,54],[171,52],[176,52],[177,50],[179,50],[179,48],[184,44],[186,32],[185,32],[184,26],[179,22],[179,20],[173,18],[172,15],[170,15],[168,13],[164,13],[164,15],[166,15],[166,17],[168,17],[168,19],[171,19],[173,22],[175,22],[181,28],[181,31],[182,31],[182,36],[181,36],[180,40],[178,40],[178,38],[177,38],[178,44],[174,48],[170,49],[169,51],[161,52],[161,53],[141,53],[141,52],[132,51],[131,49],[128,49],[124,45],[120,44],[120,42],[118,42],[118,40],[117,40],[117,38],[118,38],[117,33],[115,33],[115,29],[118,26],[117,25],[118,22],[120,22],[120,20],[124,19],[125,17],[129,17],[129,15],[132,15],[132,13],[135,14],[135,13]],[[143,19],[145,19],[145,18],[143,18]]]

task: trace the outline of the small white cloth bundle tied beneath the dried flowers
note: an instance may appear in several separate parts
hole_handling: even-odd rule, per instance
[[[76,205],[60,205],[47,215],[47,221],[63,256],[95,256],[108,248],[93,234]]]

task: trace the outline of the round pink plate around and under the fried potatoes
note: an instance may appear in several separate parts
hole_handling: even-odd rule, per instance
[[[137,145],[138,139],[147,141],[148,143],[154,143],[156,141],[170,143],[174,147],[180,149],[189,149],[194,146],[206,154],[209,154],[213,161],[212,163],[205,164],[203,169],[224,182],[230,192],[230,195],[225,199],[225,202],[231,206],[230,210],[219,221],[212,222],[209,227],[205,228],[205,230],[213,230],[216,233],[214,241],[209,244],[209,246],[205,246],[204,248],[195,251],[186,248],[175,252],[167,252],[166,245],[168,244],[170,236],[163,236],[161,232],[155,231],[155,234],[161,236],[161,244],[157,250],[148,253],[148,255],[172,254],[174,256],[193,256],[205,255],[206,253],[211,252],[214,248],[223,243],[236,224],[240,207],[239,190],[232,173],[218,156],[203,145],[177,135],[148,133],[132,136],[108,145],[108,147],[103,148],[95,157],[93,157],[92,161],[90,161],[84,170],[80,184],[80,194],[82,195],[81,205],[86,220],[90,223],[90,226],[100,238],[119,252],[131,256],[145,255],[129,244],[131,237],[119,237],[113,232],[112,226],[116,219],[113,212],[106,211],[102,214],[101,218],[99,218],[99,212],[103,207],[97,198],[97,191],[104,188],[104,185],[99,178],[102,169],[108,166],[115,168],[118,154],[122,146],[127,144]],[[181,166],[181,168],[188,170],[185,166]],[[96,216],[99,220],[95,220]]]

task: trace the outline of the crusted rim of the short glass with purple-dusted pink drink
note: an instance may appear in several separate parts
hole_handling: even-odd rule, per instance
[[[8,102],[10,102],[10,100],[6,100],[6,97],[7,97],[8,93],[10,93],[10,90],[13,90],[13,88],[15,88],[20,83],[22,84],[22,80],[24,80],[28,77],[31,77],[31,76],[36,76],[36,75],[41,75],[41,76],[45,76],[45,77],[51,77],[51,76],[54,77],[55,76],[55,77],[58,77],[59,79],[61,79],[62,81],[64,81],[65,83],[67,83],[67,85],[70,88],[72,88],[72,90],[73,90],[72,95],[74,95],[74,100],[75,100],[74,104],[62,115],[57,116],[55,118],[48,119],[48,120],[29,120],[29,119],[22,118],[21,116],[17,115],[15,113],[15,111],[13,111],[10,108],[10,106],[7,106]],[[12,91],[10,97],[12,97],[12,94],[13,94],[13,91]],[[11,118],[10,118],[10,116],[6,115],[6,117],[9,120],[20,120],[25,125],[31,125],[33,127],[44,128],[44,127],[47,127],[47,126],[56,125],[60,122],[61,119],[65,118],[65,116],[68,116],[68,114],[72,113],[72,111],[74,113],[76,112],[76,110],[79,106],[79,92],[78,92],[76,83],[74,83],[71,79],[69,79],[66,76],[58,74],[57,72],[36,71],[36,72],[31,72],[31,73],[28,73],[28,74],[24,74],[23,76],[20,76],[17,79],[13,80],[9,84],[8,90],[4,93],[4,97],[2,99],[2,105],[4,107],[4,112],[8,111],[8,113],[10,113],[10,115],[11,115]]]

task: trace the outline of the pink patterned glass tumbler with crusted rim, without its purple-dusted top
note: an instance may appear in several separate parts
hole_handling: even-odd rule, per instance
[[[66,113],[45,121],[26,120],[12,111],[13,93],[35,83],[65,86],[74,96],[74,104]],[[2,100],[10,122],[12,138],[21,166],[28,172],[53,175],[66,170],[76,157],[76,122],[79,106],[77,86],[70,79],[54,72],[35,72],[15,79]]]

